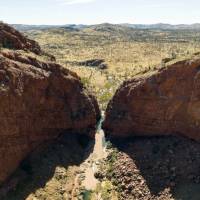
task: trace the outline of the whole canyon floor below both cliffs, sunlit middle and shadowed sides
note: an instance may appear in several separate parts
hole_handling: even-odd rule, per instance
[[[199,200],[200,144],[181,137],[54,143],[12,177],[3,200]]]

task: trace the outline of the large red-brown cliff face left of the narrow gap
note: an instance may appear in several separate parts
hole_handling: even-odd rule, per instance
[[[0,42],[9,31],[22,40],[5,27]],[[0,184],[44,141],[72,132],[94,137],[100,117],[95,97],[75,73],[17,51],[0,51],[0,98]]]

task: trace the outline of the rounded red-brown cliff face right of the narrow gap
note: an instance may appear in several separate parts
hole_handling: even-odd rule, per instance
[[[200,60],[124,82],[103,127],[112,137],[183,135],[200,141]]]

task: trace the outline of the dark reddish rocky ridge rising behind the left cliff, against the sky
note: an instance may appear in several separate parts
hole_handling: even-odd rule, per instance
[[[0,46],[3,48],[28,50],[36,54],[41,54],[39,44],[23,36],[14,28],[0,22]]]

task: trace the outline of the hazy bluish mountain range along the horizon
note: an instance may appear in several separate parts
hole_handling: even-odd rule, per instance
[[[159,23],[159,24],[109,24],[109,23],[104,23],[104,24],[96,24],[96,25],[84,25],[84,24],[66,24],[66,25],[24,25],[24,24],[12,24],[13,27],[20,31],[27,31],[27,30],[42,30],[42,29],[54,29],[54,28],[65,28],[69,30],[80,30],[84,28],[91,28],[95,27],[98,29],[98,27],[103,28],[103,27],[128,27],[128,28],[133,28],[133,29],[159,29],[159,30],[184,30],[184,29],[189,29],[189,30],[200,30],[200,23],[196,24],[177,24],[177,25],[172,25],[172,24],[164,24],[164,23]]]

